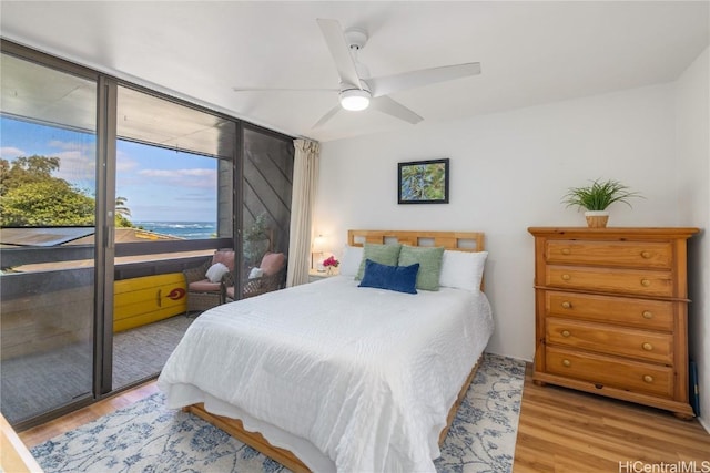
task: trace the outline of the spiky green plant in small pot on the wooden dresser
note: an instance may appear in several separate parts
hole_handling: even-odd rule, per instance
[[[570,187],[562,203],[570,206],[585,208],[585,217],[589,227],[606,227],[609,220],[609,207],[615,202],[622,202],[629,207],[629,198],[641,197],[636,192],[631,192],[628,186],[618,181],[595,179],[591,185],[585,187]]]

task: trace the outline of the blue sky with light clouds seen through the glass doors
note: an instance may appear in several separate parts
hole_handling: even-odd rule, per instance
[[[95,194],[95,135],[0,117],[0,157],[60,158],[54,173]],[[119,141],[116,196],[132,222],[215,222],[217,160]]]

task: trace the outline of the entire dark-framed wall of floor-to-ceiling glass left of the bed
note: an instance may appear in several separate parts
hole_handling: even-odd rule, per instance
[[[260,216],[287,255],[293,144],[0,45],[0,408],[22,430],[155,377],[196,316],[171,288]]]

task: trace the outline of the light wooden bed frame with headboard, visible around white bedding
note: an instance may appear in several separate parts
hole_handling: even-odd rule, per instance
[[[434,246],[458,251],[483,251],[485,234],[480,232],[413,232],[413,230],[348,230],[347,244],[349,246],[363,246],[364,243],[400,243],[410,246]],[[483,290],[483,284],[481,284]],[[448,411],[446,426],[439,434],[439,445],[444,443],[446,434],[454,422],[456,412],[464,401],[476,371],[481,362],[483,353],[476,361],[468,378],[462,385],[458,397]],[[250,432],[244,429],[244,424],[239,419],[224,415],[216,415],[207,412],[203,403],[192,404],[183,408],[183,411],[191,412],[211,424],[222,429],[230,435],[281,463],[295,473],[305,473],[311,470],[291,451],[274,446],[258,432]]]

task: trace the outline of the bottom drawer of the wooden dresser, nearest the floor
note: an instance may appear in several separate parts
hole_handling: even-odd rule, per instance
[[[672,398],[673,369],[601,354],[547,347],[546,371],[633,392]]]

